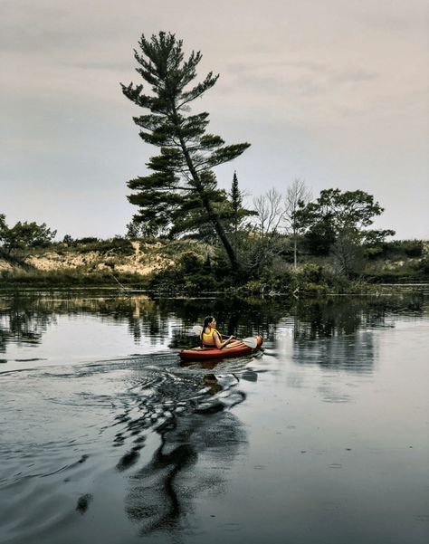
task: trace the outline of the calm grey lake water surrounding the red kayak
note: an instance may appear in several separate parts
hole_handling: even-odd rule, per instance
[[[427,542],[428,294],[0,291],[0,541]],[[180,366],[206,314],[264,351]]]

